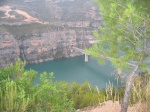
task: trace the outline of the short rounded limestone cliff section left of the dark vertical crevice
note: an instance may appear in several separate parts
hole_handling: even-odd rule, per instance
[[[17,40],[9,33],[0,33],[0,67],[8,66],[20,57]]]

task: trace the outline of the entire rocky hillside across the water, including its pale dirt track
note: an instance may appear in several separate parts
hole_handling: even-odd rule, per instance
[[[0,67],[68,58],[91,45],[101,25],[92,0],[13,0],[0,3]]]

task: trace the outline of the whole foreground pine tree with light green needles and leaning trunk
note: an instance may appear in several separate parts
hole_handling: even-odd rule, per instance
[[[128,69],[121,112],[126,112],[136,72],[148,68],[150,53],[150,0],[95,0],[103,26],[94,35],[99,40],[89,53],[117,69]]]

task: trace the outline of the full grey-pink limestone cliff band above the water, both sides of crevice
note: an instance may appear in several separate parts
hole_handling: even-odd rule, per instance
[[[38,63],[81,55],[73,47],[89,47],[91,33],[82,30],[49,31],[23,40],[16,40],[9,33],[1,34],[0,67],[6,67],[18,58],[27,63]]]

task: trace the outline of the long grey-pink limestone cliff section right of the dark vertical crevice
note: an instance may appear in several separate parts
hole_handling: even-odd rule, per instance
[[[51,31],[20,42],[21,58],[28,63],[81,55],[73,47],[85,48],[90,43],[81,31]]]

